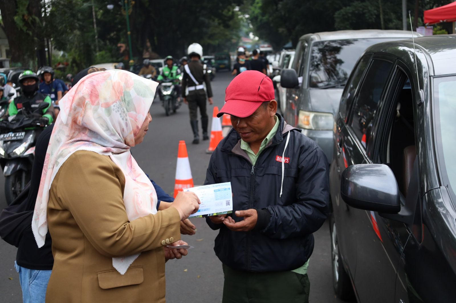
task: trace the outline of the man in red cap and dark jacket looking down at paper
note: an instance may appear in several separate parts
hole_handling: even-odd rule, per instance
[[[219,230],[223,303],[304,303],[316,232],[329,211],[328,164],[314,141],[276,113],[274,86],[244,71],[218,116],[233,129],[212,153],[204,184],[231,182],[233,213],[207,217]]]

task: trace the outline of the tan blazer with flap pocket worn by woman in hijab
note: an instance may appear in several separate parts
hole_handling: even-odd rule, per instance
[[[52,182],[47,221],[54,267],[49,303],[165,302],[163,246],[181,239],[170,207],[128,221],[124,174],[108,156],[75,152]],[[140,253],[124,275],[113,257]]]

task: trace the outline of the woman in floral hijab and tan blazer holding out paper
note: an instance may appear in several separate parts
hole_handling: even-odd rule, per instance
[[[148,130],[157,83],[127,71],[85,76],[60,101],[32,220],[52,236],[47,302],[165,302],[165,262],[186,255],[180,221],[199,200],[183,192],[156,209],[131,156]],[[164,207],[163,207],[164,208]]]

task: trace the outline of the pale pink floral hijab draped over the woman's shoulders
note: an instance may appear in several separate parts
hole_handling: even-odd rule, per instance
[[[46,238],[52,181],[77,151],[109,156],[124,172],[124,203],[130,221],[157,212],[155,189],[130,153],[157,85],[129,71],[100,71],[85,76],[60,100],[61,111],[47,148],[31,224],[38,247]],[[113,258],[113,266],[124,274],[138,256]]]

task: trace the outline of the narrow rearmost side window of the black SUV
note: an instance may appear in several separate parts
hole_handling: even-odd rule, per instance
[[[340,116],[344,119],[345,122],[348,120],[348,113],[350,107],[352,106],[353,99],[355,98],[356,90],[363,78],[364,72],[369,65],[372,55],[365,55],[358,62],[358,65],[355,67],[355,70],[350,75],[347,85],[345,86],[344,92],[342,94],[341,103],[339,106]]]

